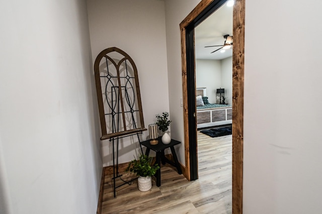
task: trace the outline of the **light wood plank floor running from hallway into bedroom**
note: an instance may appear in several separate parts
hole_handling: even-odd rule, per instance
[[[161,167],[160,187],[153,178],[152,189],[140,192],[134,180],[117,188],[116,198],[106,176],[102,213],[231,213],[231,135],[211,138],[198,132],[198,161],[198,180],[188,181],[167,164]]]

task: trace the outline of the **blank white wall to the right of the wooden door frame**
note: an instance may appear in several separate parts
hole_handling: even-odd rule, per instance
[[[246,1],[245,213],[321,212],[321,7]]]

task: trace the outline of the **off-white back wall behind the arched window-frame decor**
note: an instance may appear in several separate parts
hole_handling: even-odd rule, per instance
[[[165,3],[88,0],[88,13],[93,61],[109,47],[129,54],[138,70],[145,127],[155,123],[156,114],[169,112]],[[147,136],[143,132],[143,140]],[[113,165],[111,142],[105,140],[102,145],[104,166]],[[139,151],[136,137],[123,138],[120,147],[120,163],[132,160]]]

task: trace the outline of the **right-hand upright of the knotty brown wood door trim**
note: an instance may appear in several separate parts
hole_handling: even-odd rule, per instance
[[[243,213],[245,0],[235,0],[232,47],[232,212]]]

